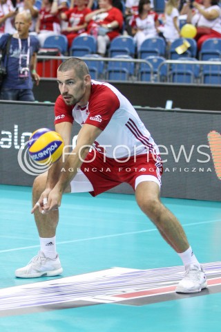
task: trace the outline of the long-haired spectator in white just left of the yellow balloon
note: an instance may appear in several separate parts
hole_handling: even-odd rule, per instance
[[[168,0],[165,3],[164,26],[160,26],[159,30],[163,33],[168,46],[170,46],[175,39],[180,37],[178,6],[179,0]]]

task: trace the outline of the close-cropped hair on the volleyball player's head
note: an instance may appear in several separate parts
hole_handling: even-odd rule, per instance
[[[86,63],[78,57],[70,57],[60,64],[58,71],[70,71],[75,70],[77,77],[83,80],[85,75],[89,75],[88,66]]]

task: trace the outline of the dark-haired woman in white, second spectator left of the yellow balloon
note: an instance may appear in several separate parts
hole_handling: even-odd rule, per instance
[[[157,29],[160,25],[158,15],[151,10],[150,0],[139,1],[138,14],[131,17],[130,25],[138,50],[145,39],[158,35]]]

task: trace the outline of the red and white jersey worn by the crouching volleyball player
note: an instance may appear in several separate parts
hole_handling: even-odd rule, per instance
[[[102,129],[95,148],[108,158],[124,158],[147,151],[159,154],[151,134],[131,103],[114,86],[92,80],[88,104],[67,106],[61,97],[55,102],[55,124],[75,120],[81,126],[92,124]]]

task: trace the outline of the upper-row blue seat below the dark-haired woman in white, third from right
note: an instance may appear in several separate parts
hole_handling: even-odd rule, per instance
[[[145,59],[149,55],[165,56],[166,42],[162,37],[153,37],[145,39],[140,46],[138,57]]]

